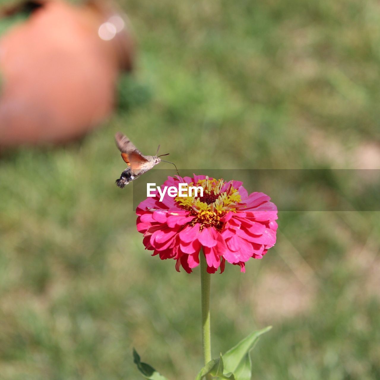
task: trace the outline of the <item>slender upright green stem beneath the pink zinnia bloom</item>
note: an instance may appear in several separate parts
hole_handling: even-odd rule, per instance
[[[211,336],[210,336],[210,279],[211,275],[207,273],[207,263],[203,252],[201,256],[201,302],[202,302],[202,346],[204,364],[211,360]],[[206,376],[211,380],[211,375]]]

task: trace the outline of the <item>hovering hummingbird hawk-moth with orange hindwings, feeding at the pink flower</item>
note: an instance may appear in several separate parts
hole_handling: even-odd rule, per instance
[[[115,135],[116,145],[121,152],[121,157],[127,163],[128,167],[121,173],[120,178],[116,180],[116,185],[120,188],[124,188],[131,181],[146,173],[148,170],[152,169],[153,166],[159,164],[161,161],[173,164],[173,162],[161,160],[160,157],[167,156],[169,153],[161,154],[157,156],[160,146],[157,148],[157,153],[155,156],[144,156],[141,152],[133,145],[127,136],[120,132]],[[176,170],[177,166],[174,165]],[[178,173],[178,170],[177,170]],[[179,173],[178,173],[179,175]]]

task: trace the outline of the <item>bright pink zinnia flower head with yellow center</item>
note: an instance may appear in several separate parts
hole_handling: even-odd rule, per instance
[[[192,272],[199,264],[199,252],[207,261],[207,272],[224,271],[225,261],[239,265],[260,259],[276,242],[277,207],[264,193],[251,193],[242,182],[223,182],[207,176],[168,177],[161,186],[180,183],[201,186],[203,196],[173,198],[167,193],[162,202],[157,195],[142,201],[136,209],[137,230],[144,234],[145,248],[161,260],[174,259],[179,267]]]

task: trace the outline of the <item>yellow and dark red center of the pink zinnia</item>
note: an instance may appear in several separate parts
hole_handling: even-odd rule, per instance
[[[222,228],[220,218],[227,212],[235,212],[236,205],[241,201],[239,192],[230,184],[225,191],[223,179],[206,177],[199,179],[195,186],[203,187],[203,196],[177,196],[175,201],[190,211],[195,218],[190,223],[194,226],[200,223],[204,227]],[[194,186],[193,182],[189,186]]]

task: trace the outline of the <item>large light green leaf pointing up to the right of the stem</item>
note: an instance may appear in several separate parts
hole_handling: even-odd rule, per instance
[[[252,363],[249,351],[259,339],[260,335],[269,331],[272,326],[253,331],[249,336],[241,340],[235,347],[228,350],[223,356],[224,373],[232,372],[235,380],[250,380]]]

